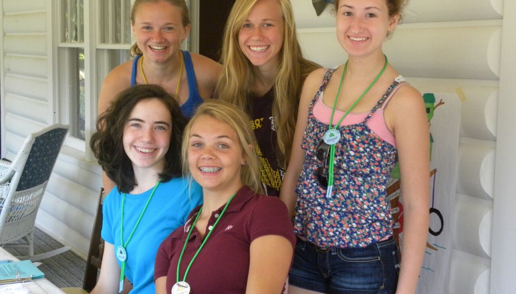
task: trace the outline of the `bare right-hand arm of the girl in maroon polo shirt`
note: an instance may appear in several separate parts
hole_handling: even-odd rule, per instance
[[[251,243],[247,294],[281,293],[294,249],[279,235],[266,235]]]

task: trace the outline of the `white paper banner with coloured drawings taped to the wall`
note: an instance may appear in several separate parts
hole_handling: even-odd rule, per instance
[[[461,103],[456,94],[426,93],[424,99],[431,123],[430,226],[416,293],[442,294],[448,292],[453,246]],[[395,235],[399,235],[400,247],[403,246],[403,200],[399,199],[402,180],[395,169],[387,190],[396,222],[394,231]]]

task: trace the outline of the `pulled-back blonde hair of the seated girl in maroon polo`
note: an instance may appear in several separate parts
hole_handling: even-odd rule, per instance
[[[208,99],[204,101],[193,114],[192,118],[183,132],[183,147],[181,154],[183,156],[183,174],[191,175],[188,166],[188,140],[190,138],[192,125],[197,118],[202,115],[208,115],[223,123],[228,124],[235,130],[240,147],[244,153],[244,159],[247,164],[242,165],[240,169],[240,178],[242,183],[248,185],[254,192],[263,193],[260,182],[260,163],[254,151],[254,133],[249,124],[249,116],[241,109],[229,102]]]

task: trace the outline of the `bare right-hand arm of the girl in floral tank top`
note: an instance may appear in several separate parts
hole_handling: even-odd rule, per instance
[[[396,293],[415,292],[426,247],[429,222],[429,127],[421,94],[403,87],[385,109],[398,149],[404,231]]]

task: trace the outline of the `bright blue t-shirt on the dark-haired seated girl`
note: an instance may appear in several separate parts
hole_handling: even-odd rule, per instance
[[[140,217],[152,188],[142,194],[127,194],[124,204],[124,243]],[[186,178],[173,178],[160,183],[146,212],[127,245],[125,276],[133,283],[131,293],[154,294],[154,260],[162,241],[186,222],[190,211],[202,203],[202,188],[196,182],[189,185]],[[121,244],[120,220],[122,194],[117,188],[104,199],[102,238],[116,248]],[[113,252],[115,254],[115,252]],[[118,262],[121,266],[121,262]]]

